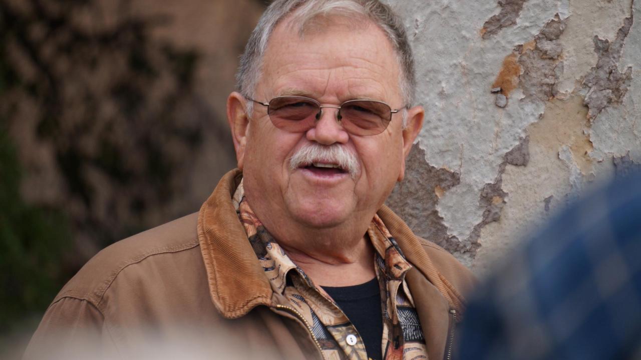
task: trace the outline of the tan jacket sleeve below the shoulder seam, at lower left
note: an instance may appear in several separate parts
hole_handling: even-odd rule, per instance
[[[63,297],[47,309],[24,359],[90,359],[103,348],[104,316],[83,299]]]

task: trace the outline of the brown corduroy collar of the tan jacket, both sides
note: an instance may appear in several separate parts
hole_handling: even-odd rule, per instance
[[[246,315],[259,305],[270,306],[272,298],[269,279],[256,259],[231,202],[240,179],[242,172],[238,169],[225,174],[204,202],[198,216],[198,240],[212,301],[226,318]],[[410,290],[412,283],[419,284],[421,277],[426,278],[444,297],[445,306],[449,304],[462,311],[463,298],[437,271],[419,238],[387,206],[383,206],[378,215],[416,268],[408,274],[412,277],[408,279]]]

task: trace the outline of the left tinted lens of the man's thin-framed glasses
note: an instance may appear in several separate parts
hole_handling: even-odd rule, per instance
[[[311,129],[319,110],[319,104],[312,99],[283,96],[269,102],[267,113],[274,126],[297,132]]]

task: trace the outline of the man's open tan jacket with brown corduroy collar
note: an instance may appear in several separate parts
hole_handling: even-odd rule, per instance
[[[199,213],[99,252],[58,293],[26,358],[181,357],[321,359],[309,324],[272,306],[272,289],[231,197],[242,174],[222,177]],[[406,279],[429,359],[443,359],[473,275],[378,212],[414,268]],[[213,305],[213,306],[212,306]],[[453,321],[454,320],[454,321]]]

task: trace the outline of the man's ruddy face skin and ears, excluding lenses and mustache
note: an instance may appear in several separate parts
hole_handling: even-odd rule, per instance
[[[355,27],[346,19],[331,19],[301,38],[285,20],[271,35],[262,71],[258,101],[301,95],[332,106],[353,99],[384,101],[392,109],[405,105],[392,45],[374,24]],[[409,147],[404,147],[408,138],[401,113],[393,115],[383,133],[356,136],[337,122],[336,112],[323,109],[315,127],[291,133],[275,127],[267,108],[254,104],[244,149],[238,151],[237,144],[237,154],[249,204],[268,228],[294,223],[328,228],[371,219],[403,177]],[[411,146],[413,137],[409,141]],[[313,166],[290,168],[292,155],[312,143],[353,152],[355,176]]]

